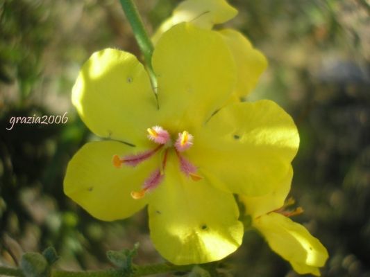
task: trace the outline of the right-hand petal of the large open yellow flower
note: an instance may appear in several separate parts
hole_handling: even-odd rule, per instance
[[[212,183],[260,196],[285,182],[298,150],[292,118],[275,102],[240,102],[221,109],[194,134],[190,159]]]

